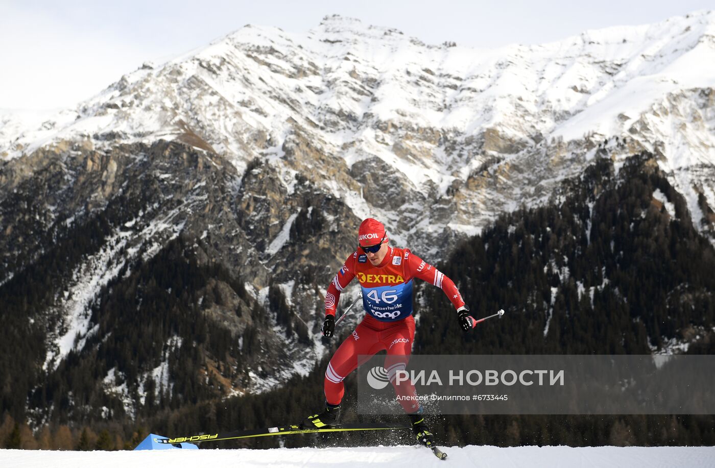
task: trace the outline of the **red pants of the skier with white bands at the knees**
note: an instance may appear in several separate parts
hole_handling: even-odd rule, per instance
[[[400,404],[405,412],[418,411],[420,405],[415,399],[417,392],[413,384],[409,381],[395,384],[395,374],[404,370],[410,359],[414,338],[415,319],[411,315],[397,322],[380,322],[370,315],[365,315],[363,322],[340,344],[327,364],[325,401],[328,404],[340,404],[345,394],[345,384],[342,380],[370,356],[385,349],[388,352],[385,356],[385,371],[395,393],[400,397]],[[361,362],[358,362],[358,356],[362,357]]]

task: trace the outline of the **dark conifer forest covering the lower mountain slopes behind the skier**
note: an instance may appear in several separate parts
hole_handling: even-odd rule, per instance
[[[458,284],[475,317],[499,308],[506,309],[508,315],[465,335],[443,293],[424,284],[415,304],[419,320],[413,352],[648,354],[682,342],[689,344],[689,353],[711,354],[715,251],[694,229],[684,199],[658,169],[654,157],[632,156],[618,166],[610,159],[597,159],[580,177],[564,182],[553,204],[501,216],[482,234],[460,245],[439,265],[440,270]],[[107,323],[125,323],[126,328],[118,329],[107,343],[86,347],[92,349],[90,354],[70,356],[67,362],[75,364],[71,369],[60,369],[41,389],[27,395],[35,408],[55,409],[52,419],[34,437],[24,424],[25,414],[14,412],[23,395],[4,392],[0,444],[121,449],[131,447],[149,430],[173,436],[264,427],[296,422],[320,409],[327,358],[307,377],[293,377],[270,392],[232,398],[221,398],[220,392],[202,394],[206,387],[199,380],[209,378],[211,365],[207,356],[240,360],[245,354],[260,352],[260,336],[272,323],[269,314],[242,292],[242,282],[229,272],[192,261],[192,249],[192,242],[179,238],[152,262],[133,269],[131,281],[108,285],[94,313],[115,317]],[[199,295],[192,293],[204,291],[216,277],[232,285],[242,298],[245,305],[237,313],[252,314],[255,319],[255,327],[247,329],[243,337],[222,332],[219,324],[205,317]],[[0,293],[9,294],[7,291],[0,288]],[[137,309],[138,291],[148,301],[142,301],[147,313],[134,315],[127,309]],[[221,300],[221,294],[217,296]],[[270,315],[271,320],[290,323],[290,307],[277,288],[272,290],[271,302],[272,309],[282,311]],[[6,304],[22,307],[21,298]],[[99,323],[104,322],[100,319]],[[6,328],[3,333],[12,330]],[[137,414],[126,414],[119,402],[102,397],[96,384],[99,376],[112,365],[132,372],[132,362],[162,356],[162,349],[142,349],[141,343],[145,334],[165,338],[169,331],[187,344],[169,357],[172,378],[177,382],[171,391],[160,385],[150,389]],[[342,331],[341,338],[348,332]],[[300,334],[306,333],[301,330]],[[239,338],[242,346],[238,346]],[[340,339],[323,342],[332,351]],[[132,358],[132,347],[137,347],[141,356]],[[9,355],[2,356],[6,359]],[[1,364],[2,369],[14,369],[5,366],[18,363]],[[355,376],[348,377],[346,384],[345,419],[361,419],[351,409]],[[218,385],[220,379],[215,382]],[[63,408],[62,395],[67,392],[75,396],[79,392],[87,404],[81,409]],[[103,408],[112,410],[111,418],[106,413],[102,417]],[[715,444],[713,417],[474,415],[431,417],[430,423],[446,444]],[[408,434],[392,434],[390,441],[384,437],[299,436],[282,443],[287,447],[410,443]],[[204,445],[277,444],[278,440],[266,438]]]

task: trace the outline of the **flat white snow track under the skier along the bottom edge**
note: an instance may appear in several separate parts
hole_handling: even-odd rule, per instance
[[[700,468],[715,466],[715,447],[443,447],[445,460],[424,447],[327,449],[156,450],[55,452],[0,450],[0,466],[12,468],[199,467],[484,467],[484,468]]]

